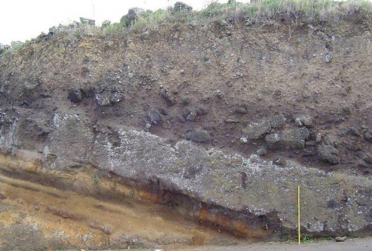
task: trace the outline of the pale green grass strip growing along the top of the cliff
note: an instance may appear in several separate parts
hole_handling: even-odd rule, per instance
[[[343,2],[334,2],[333,0],[258,0],[251,4],[219,4],[214,2],[206,9],[193,11],[190,14],[174,12],[172,8],[159,9],[154,12],[146,11],[129,28],[123,23],[113,23],[105,28],[73,23],[56,29],[54,35],[75,42],[82,36],[125,36],[130,31],[147,33],[160,29],[166,23],[197,24],[221,19],[225,19],[229,23],[239,21],[272,23],[284,18],[297,24],[299,21],[340,21],[353,15],[370,20],[372,18],[372,2],[367,0]],[[31,43],[34,42],[37,41],[31,41]],[[12,48],[11,51],[17,51],[27,44],[30,44],[30,41],[17,46],[17,48]],[[9,54],[11,51],[3,54]]]

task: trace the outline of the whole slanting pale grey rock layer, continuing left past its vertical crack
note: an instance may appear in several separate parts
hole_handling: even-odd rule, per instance
[[[21,115],[1,129],[3,153],[41,148],[22,143],[27,116]],[[290,160],[278,166],[256,155],[226,155],[185,140],[173,146],[146,132],[94,128],[77,115],[55,114],[51,128],[43,146],[49,168],[93,164],[136,182],[159,181],[162,189],[227,209],[274,213],[287,228],[296,228],[300,185],[301,227],[308,231],[352,234],[372,223],[372,181],[363,177],[325,173]]]

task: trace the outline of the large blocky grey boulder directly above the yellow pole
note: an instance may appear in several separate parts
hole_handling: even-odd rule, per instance
[[[309,129],[303,127],[266,135],[265,140],[270,149],[302,149],[305,147],[305,140],[308,138]]]

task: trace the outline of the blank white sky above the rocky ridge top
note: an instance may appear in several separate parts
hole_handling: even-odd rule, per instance
[[[41,32],[48,33],[49,28],[58,24],[67,24],[79,17],[87,17],[101,24],[108,19],[119,22],[129,8],[141,7],[157,10],[173,6],[172,0],[11,0],[1,1],[0,43],[22,41],[35,38]],[[203,9],[212,0],[183,0],[194,9]],[[216,1],[215,1],[216,2]],[[217,1],[226,3],[227,0]],[[249,2],[240,0],[238,2]]]

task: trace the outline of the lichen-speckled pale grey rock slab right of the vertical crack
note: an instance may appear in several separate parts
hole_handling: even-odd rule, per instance
[[[255,215],[278,211],[282,223],[294,228],[297,219],[297,185],[302,195],[302,222],[310,232],[356,231],[367,224],[372,199],[364,194],[372,182],[345,174],[324,173],[288,161],[274,165],[256,155],[224,155],[190,141],[175,146],[146,132],[118,130],[120,145],[113,146],[108,133],[98,134],[94,163],[134,180],[159,179],[166,189],[233,210],[249,210]],[[242,187],[242,172],[247,174]],[[346,180],[349,180],[346,182]],[[353,184],[353,185],[347,185]],[[345,204],[338,204],[345,197]]]

